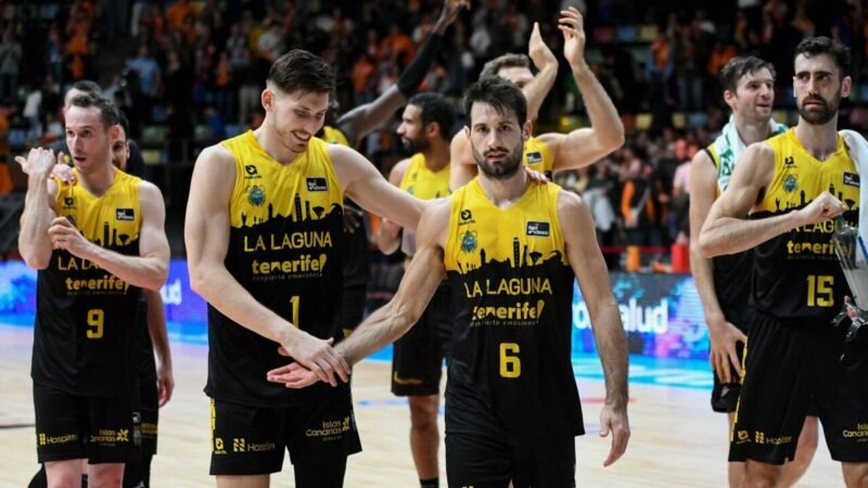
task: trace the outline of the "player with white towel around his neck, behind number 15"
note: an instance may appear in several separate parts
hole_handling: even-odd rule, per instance
[[[732,115],[720,136],[697,153],[690,168],[690,265],[711,338],[709,360],[715,372],[712,409],[728,413],[731,428],[741,389],[741,356],[754,314],[754,308],[746,305],[753,251],[705,259],[699,248],[699,234],[744,150],[784,132],[787,127],[771,119],[775,67],[770,63],[754,56],[735,57],[720,68],[720,82]],[[792,486],[807,470],[817,448],[817,435],[816,411],[812,411],[799,437],[795,461],[784,468],[782,486]],[[730,487],[738,487],[743,475],[744,463],[729,463]]]

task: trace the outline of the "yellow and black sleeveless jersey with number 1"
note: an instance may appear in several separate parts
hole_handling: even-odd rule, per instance
[[[252,131],[222,145],[235,159],[227,269],[295,326],[320,338],[341,337],[344,195],[328,144],[311,138],[286,165],[269,156]],[[289,362],[276,343],[210,306],[208,345],[210,397],[275,407],[305,395],[266,381],[268,370]]]

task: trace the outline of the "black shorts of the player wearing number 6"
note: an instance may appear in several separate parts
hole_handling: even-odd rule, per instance
[[[527,419],[509,425],[472,391],[446,390],[446,475],[450,488],[575,487],[575,435]]]

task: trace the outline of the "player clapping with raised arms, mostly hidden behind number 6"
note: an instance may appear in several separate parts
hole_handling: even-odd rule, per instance
[[[624,144],[624,125],[621,123],[617,110],[585,60],[584,18],[573,7],[561,11],[559,27],[569,24],[577,25],[577,35],[564,43],[563,54],[582,93],[591,125],[566,134],[547,132],[525,141],[523,156],[525,165],[549,178],[561,169],[590,165]],[[480,79],[485,76],[500,76],[523,87],[527,97],[528,120],[533,123],[538,107],[556,79],[554,76],[548,75],[552,69],[551,66],[556,75],[558,72],[558,62],[542,42],[538,29],[531,36],[531,57],[540,69],[538,76],[544,80],[536,84],[534,90],[525,87],[525,84],[534,79],[527,56],[519,54],[505,54],[492,60],[483,68]],[[456,190],[476,175],[476,162],[473,159],[470,140],[463,132],[459,131],[452,138],[450,159],[452,162],[450,187]]]

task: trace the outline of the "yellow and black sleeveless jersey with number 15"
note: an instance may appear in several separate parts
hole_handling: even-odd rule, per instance
[[[752,219],[786,214],[809,204],[824,191],[844,203],[844,219],[858,220],[859,176],[838,137],[835,152],[818,160],[793,129],[769,139],[775,175]],[[834,223],[827,220],[793,229],[755,248],[753,298],[756,307],[779,319],[830,320],[848,293],[832,246]]]

